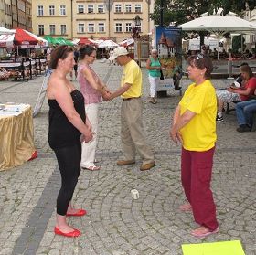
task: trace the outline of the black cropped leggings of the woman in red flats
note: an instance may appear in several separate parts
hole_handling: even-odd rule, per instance
[[[57,213],[65,216],[80,176],[80,141],[69,147],[55,149],[54,152],[61,175],[61,188],[57,197]]]

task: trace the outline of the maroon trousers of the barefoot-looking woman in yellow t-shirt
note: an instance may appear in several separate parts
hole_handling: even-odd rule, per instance
[[[182,148],[181,154],[181,182],[195,221],[212,231],[219,226],[210,190],[214,150],[215,147],[195,152]]]

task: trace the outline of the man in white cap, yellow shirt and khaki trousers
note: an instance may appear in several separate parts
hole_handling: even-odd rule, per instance
[[[135,164],[136,151],[143,159],[141,171],[146,171],[155,166],[153,150],[145,142],[143,127],[142,105],[142,71],[137,63],[130,58],[124,47],[113,50],[111,60],[123,66],[121,88],[110,95],[112,100],[121,96],[121,141],[123,146],[123,159],[117,161],[117,165]]]

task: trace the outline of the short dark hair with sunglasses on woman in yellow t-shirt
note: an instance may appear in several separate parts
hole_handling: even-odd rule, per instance
[[[205,73],[205,78],[208,79],[210,74],[213,70],[211,59],[208,55],[198,53],[197,55],[192,55],[187,58],[187,63],[190,66],[195,66],[197,69],[204,69],[206,68],[207,71]]]

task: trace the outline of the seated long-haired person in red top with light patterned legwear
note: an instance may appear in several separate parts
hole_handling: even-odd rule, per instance
[[[244,80],[244,84],[241,88],[229,87],[227,90],[216,91],[218,97],[217,122],[223,122],[222,109],[224,102],[247,101],[256,89],[256,78],[253,77],[249,66],[241,66],[240,75],[242,76],[242,80]]]

